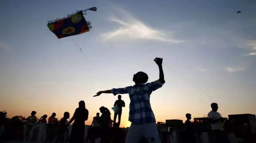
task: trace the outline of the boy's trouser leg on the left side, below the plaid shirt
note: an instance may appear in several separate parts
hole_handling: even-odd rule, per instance
[[[141,135],[142,124],[131,123],[130,129],[125,138],[125,143],[139,143],[142,138]]]

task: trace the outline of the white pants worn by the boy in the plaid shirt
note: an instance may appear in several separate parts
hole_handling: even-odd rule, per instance
[[[139,143],[143,137],[148,143],[161,143],[156,123],[131,123],[125,143]]]

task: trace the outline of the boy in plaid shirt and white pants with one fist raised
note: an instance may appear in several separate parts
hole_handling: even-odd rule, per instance
[[[148,75],[144,72],[138,72],[133,77],[134,86],[99,91],[94,95],[99,96],[102,93],[113,93],[113,95],[129,94],[131,100],[129,107],[131,127],[127,133],[125,143],[138,143],[142,137],[145,137],[149,143],[161,143],[149,98],[153,91],[163,86],[165,80],[162,67],[163,59],[155,58],[154,61],[159,67],[159,79],[157,81],[146,84]]]

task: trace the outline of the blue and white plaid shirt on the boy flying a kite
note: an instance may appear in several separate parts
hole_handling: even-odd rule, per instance
[[[163,83],[157,80],[138,86],[134,85],[125,88],[113,88],[111,93],[113,93],[113,95],[129,94],[131,100],[129,107],[129,121],[132,123],[152,123],[156,122],[156,119],[151,109],[149,98],[153,91],[162,86]]]

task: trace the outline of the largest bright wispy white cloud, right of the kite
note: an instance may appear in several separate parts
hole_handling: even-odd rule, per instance
[[[181,43],[182,40],[173,38],[165,31],[159,31],[157,29],[150,28],[145,23],[135,19],[127,11],[119,9],[122,14],[122,18],[126,17],[125,20],[120,18],[111,17],[110,20],[119,23],[121,26],[113,31],[108,31],[101,35],[104,40],[107,39],[151,39],[162,42]]]

